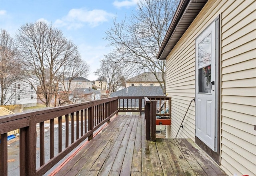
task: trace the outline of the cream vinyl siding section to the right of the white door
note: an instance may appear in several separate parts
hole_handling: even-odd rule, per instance
[[[256,2],[231,4],[222,14],[221,166],[256,175]]]

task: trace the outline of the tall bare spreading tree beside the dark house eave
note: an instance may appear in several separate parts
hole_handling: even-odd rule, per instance
[[[165,61],[156,59],[166,31],[173,18],[178,0],[140,0],[138,8],[122,22],[113,20],[106,31],[106,40],[115,49],[112,62],[138,71],[154,73],[165,93]],[[161,78],[156,72],[162,72]],[[164,81],[162,86],[161,81]]]

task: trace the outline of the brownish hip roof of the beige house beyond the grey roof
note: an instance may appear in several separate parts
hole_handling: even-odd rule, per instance
[[[157,77],[163,81],[162,72],[156,72]],[[130,79],[127,79],[126,82],[158,82],[156,76],[152,72],[144,72],[137,76],[134,76]]]

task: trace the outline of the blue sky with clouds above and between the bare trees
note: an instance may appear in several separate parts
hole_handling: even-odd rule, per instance
[[[97,77],[92,73],[100,59],[110,51],[106,30],[112,19],[118,21],[130,16],[138,0],[0,0],[0,28],[14,37],[26,22],[45,20],[78,45],[82,59],[90,65],[87,79]]]

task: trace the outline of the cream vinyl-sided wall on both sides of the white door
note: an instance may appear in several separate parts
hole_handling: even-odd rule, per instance
[[[220,15],[220,167],[230,176],[256,175],[256,1],[209,0],[166,60],[174,138],[195,97],[195,39]],[[169,134],[169,132],[167,132]],[[195,140],[192,102],[178,138]]]

